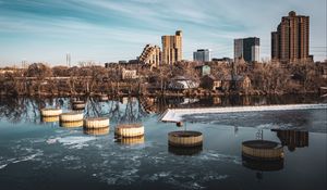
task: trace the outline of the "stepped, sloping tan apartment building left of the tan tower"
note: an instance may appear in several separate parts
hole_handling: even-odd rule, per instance
[[[158,67],[161,63],[160,48],[158,46],[146,45],[138,56],[138,61],[144,64]]]

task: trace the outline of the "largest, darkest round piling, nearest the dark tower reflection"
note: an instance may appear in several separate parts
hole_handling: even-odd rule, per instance
[[[274,141],[250,140],[242,142],[242,155],[256,160],[281,160],[283,159],[283,148]]]

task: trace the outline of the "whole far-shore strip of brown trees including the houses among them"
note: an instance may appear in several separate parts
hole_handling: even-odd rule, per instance
[[[327,63],[196,63],[47,66],[0,69],[1,96],[167,96],[318,93]]]

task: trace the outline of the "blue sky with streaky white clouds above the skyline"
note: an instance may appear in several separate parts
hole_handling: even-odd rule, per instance
[[[146,43],[183,30],[183,55],[201,48],[233,56],[233,39],[261,38],[270,58],[270,31],[294,10],[311,16],[311,53],[326,59],[326,0],[0,0],[0,66],[135,59]]]

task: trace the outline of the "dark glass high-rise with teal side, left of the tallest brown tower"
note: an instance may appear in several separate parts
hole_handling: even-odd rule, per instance
[[[234,39],[234,61],[258,62],[259,46],[261,39],[256,37]]]

